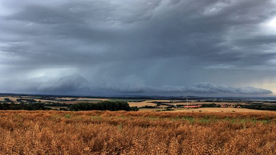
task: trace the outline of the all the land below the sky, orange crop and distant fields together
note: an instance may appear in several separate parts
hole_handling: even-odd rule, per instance
[[[6,95],[0,109],[0,155],[276,154],[274,100]]]

